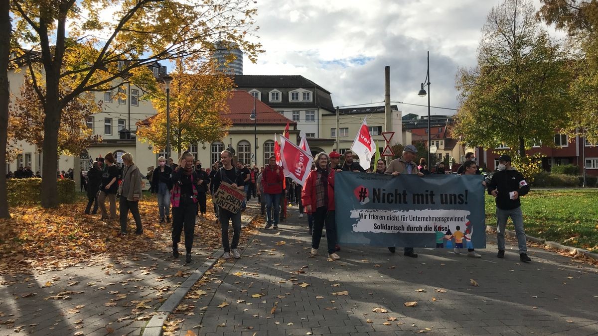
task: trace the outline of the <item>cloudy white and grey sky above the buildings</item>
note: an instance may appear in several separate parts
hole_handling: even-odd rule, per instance
[[[390,99],[427,106],[417,96],[430,51],[431,105],[457,107],[457,68],[475,66],[480,29],[499,0],[257,0],[265,53],[245,75],[303,75],[332,93],[334,105]],[[539,0],[534,1],[539,8]],[[380,105],[380,104],[379,104]],[[398,104],[403,115],[428,108]],[[432,114],[454,114],[434,109]]]

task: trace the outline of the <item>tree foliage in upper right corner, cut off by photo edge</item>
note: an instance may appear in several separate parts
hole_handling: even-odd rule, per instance
[[[537,16],[568,33],[575,80],[568,133],[598,143],[598,1],[541,0]]]

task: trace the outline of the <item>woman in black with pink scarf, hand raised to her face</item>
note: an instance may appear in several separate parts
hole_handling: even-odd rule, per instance
[[[195,213],[197,209],[197,193],[199,178],[194,163],[193,154],[183,152],[179,158],[179,164],[172,173],[172,255],[179,256],[178,243],[181,241],[181,233],[185,230],[185,250],[187,252],[186,263],[191,262],[191,248],[193,247],[193,235],[195,233]]]

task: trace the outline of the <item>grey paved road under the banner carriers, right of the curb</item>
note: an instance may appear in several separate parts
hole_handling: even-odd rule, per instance
[[[535,248],[525,264],[516,244],[498,259],[492,234],[477,251],[481,259],[342,246],[332,262],[309,257],[307,219],[296,208],[289,213],[279,230],[260,230],[241,259],[221,260],[193,288],[194,298],[170,319],[183,320],[179,335],[598,333],[596,267]],[[404,306],[413,301],[417,306]]]

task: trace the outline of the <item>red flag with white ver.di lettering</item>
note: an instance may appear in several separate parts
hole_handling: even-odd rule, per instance
[[[280,137],[280,154],[285,176],[292,178],[297,184],[304,185],[312,168],[312,155],[283,136]]]

